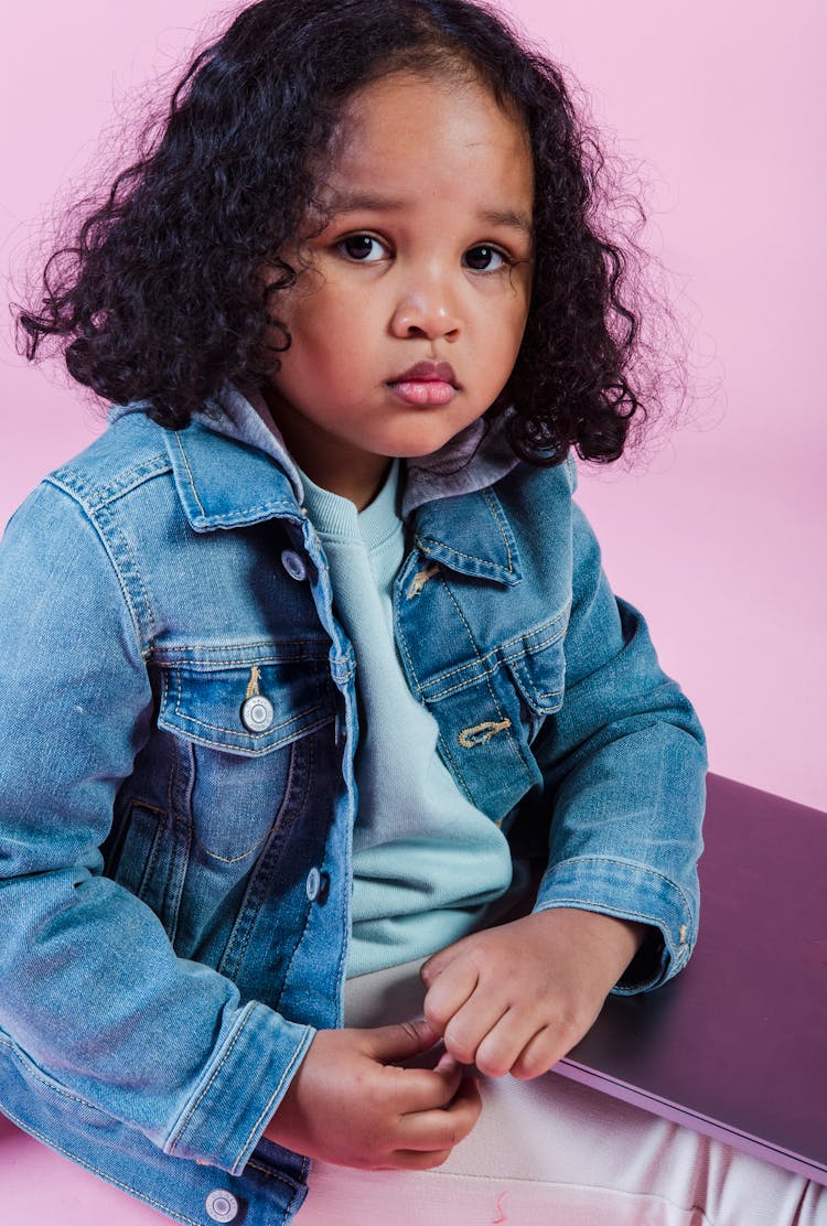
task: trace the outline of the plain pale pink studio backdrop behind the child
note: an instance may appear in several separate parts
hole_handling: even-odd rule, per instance
[[[98,132],[174,71],[202,0],[6,0],[0,253],[21,266]],[[615,587],[696,700],[713,767],[827,808],[823,769],[825,114],[817,0],[513,0],[653,183],[653,240],[720,379],[647,466],[584,474]],[[17,120],[15,123],[15,120]],[[0,349],[0,520],[99,419]],[[161,1219],[0,1121],[9,1220]]]

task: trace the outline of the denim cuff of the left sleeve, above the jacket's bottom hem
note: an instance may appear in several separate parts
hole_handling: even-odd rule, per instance
[[[252,1002],[187,1102],[164,1152],[240,1175],[315,1030]]]

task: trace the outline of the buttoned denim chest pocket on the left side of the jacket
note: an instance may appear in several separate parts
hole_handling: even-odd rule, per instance
[[[193,649],[160,663],[157,723],[175,738],[175,808],[191,823],[193,855],[243,875],[326,772],[336,707],[328,644]]]

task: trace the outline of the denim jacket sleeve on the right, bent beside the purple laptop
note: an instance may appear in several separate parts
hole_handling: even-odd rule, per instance
[[[665,982],[694,946],[704,737],[643,618],[612,595],[577,505],[572,515],[566,693],[534,745],[553,813],[535,910],[582,907],[648,924],[615,988],[631,993]]]

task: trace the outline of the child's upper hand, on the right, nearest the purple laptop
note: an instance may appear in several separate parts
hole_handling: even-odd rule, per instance
[[[645,931],[555,907],[464,937],[422,966],[426,1019],[460,1063],[539,1076],[589,1030]]]

